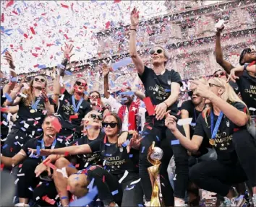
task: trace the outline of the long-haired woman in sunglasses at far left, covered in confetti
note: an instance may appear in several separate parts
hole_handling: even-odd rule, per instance
[[[24,89],[20,92],[21,89]],[[7,105],[19,105],[16,121],[7,136],[4,156],[13,157],[30,138],[42,133],[41,125],[46,113],[54,113],[54,102],[46,94],[47,79],[35,76],[30,84],[20,84],[10,94],[12,102]],[[16,97],[17,96],[17,97]]]

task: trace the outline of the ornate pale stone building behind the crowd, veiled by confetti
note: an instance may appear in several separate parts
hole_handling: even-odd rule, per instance
[[[150,65],[148,50],[155,44],[162,45],[171,56],[166,69],[179,71],[182,79],[209,76],[221,69],[215,58],[215,24],[219,19],[228,21],[221,45],[224,58],[234,66],[239,64],[239,54],[243,48],[256,43],[254,0],[247,1],[167,1],[166,15],[140,22],[137,29],[137,50],[143,61]],[[121,25],[121,24],[120,24]],[[102,63],[114,63],[129,56],[129,25],[111,27],[97,33],[98,56],[90,60],[74,61],[68,66],[64,77],[66,87],[71,87],[74,79],[88,79],[89,91],[103,93]],[[51,69],[41,70],[51,74]],[[33,76],[33,74],[29,74]],[[134,66],[124,66],[111,74],[114,91],[124,85],[135,85],[137,73]],[[136,79],[137,80],[137,79]],[[50,83],[51,85],[51,83]],[[188,89],[184,82],[182,91]]]

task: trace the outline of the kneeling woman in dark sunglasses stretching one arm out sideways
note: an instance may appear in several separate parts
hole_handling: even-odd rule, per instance
[[[67,146],[63,149],[44,149],[40,153],[46,154],[90,154],[101,152],[103,167],[93,166],[88,169],[88,178],[98,188],[98,198],[105,206],[142,205],[143,193],[138,175],[138,156],[136,150],[140,139],[130,138],[118,146],[121,131],[121,119],[116,113],[110,113],[102,122],[105,138],[97,139],[89,144],[80,146]],[[134,149],[135,148],[135,149]]]

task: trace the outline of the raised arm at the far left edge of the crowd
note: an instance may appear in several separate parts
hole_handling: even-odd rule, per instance
[[[11,53],[9,53],[8,51],[5,53],[4,58],[7,60],[7,62],[9,63],[9,67],[10,67],[10,82],[9,84],[6,84],[4,86],[3,92],[9,94],[12,89],[14,89],[16,83],[17,83],[17,74],[15,72],[15,66],[14,66],[14,61],[12,60],[12,55]]]

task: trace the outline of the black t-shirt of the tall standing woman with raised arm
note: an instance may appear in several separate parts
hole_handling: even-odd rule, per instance
[[[150,97],[153,105],[158,105],[168,99],[171,95],[172,82],[179,83],[182,86],[181,76],[174,70],[166,70],[162,75],[156,75],[153,69],[145,66],[143,74],[139,74],[139,77],[144,84],[145,95]],[[179,112],[178,101],[174,102],[167,110],[171,110],[171,115],[177,116]],[[146,117],[148,117],[148,113],[146,113]]]

